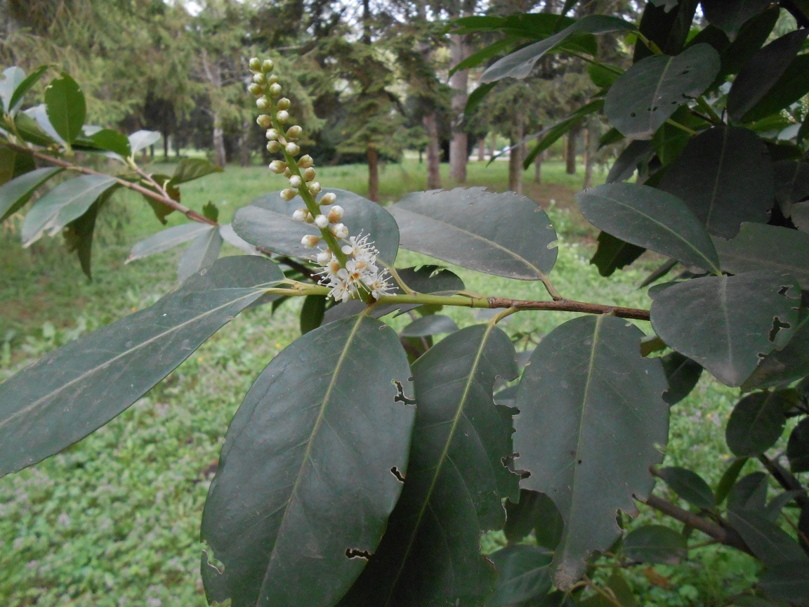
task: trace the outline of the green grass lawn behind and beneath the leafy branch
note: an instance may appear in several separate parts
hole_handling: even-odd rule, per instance
[[[423,189],[424,172],[415,160],[386,165],[383,201]],[[572,205],[582,176],[568,176],[554,162],[544,165],[543,175],[546,182],[536,185],[527,171],[525,191],[548,210],[560,234],[552,275],[559,291],[569,299],[648,307],[645,291],[636,285],[659,259],[645,256],[622,274],[599,278],[588,261],[596,232]],[[366,193],[362,166],[323,168],[319,180]],[[227,222],[239,207],[283,185],[282,178],[264,168],[229,167],[185,185],[183,202],[201,210],[211,200]],[[468,185],[505,190],[506,163],[470,163]],[[169,225],[183,219],[172,214]],[[160,227],[140,197],[120,197],[100,218],[93,282],[87,282],[57,240],[19,248],[17,227],[7,223],[0,233],[0,380],[82,333],[153,304],[176,285],[176,251],[124,264],[129,248]],[[424,261],[402,252],[397,265]],[[472,291],[522,299],[545,296],[535,282],[454,270]],[[299,335],[299,305],[289,302],[274,315],[269,307],[245,312],[106,427],[39,465],[0,479],[0,605],[205,605],[198,573],[199,521],[222,439],[252,380]],[[477,321],[468,309],[445,313],[460,326]],[[539,338],[570,316],[523,312],[502,326]],[[400,327],[406,321],[392,324]],[[640,326],[648,333],[648,325]],[[666,465],[694,467],[709,482],[718,481],[722,468],[714,454],[726,455],[723,422],[736,393],[704,378],[676,405]],[[641,520],[671,524],[648,510]],[[497,534],[486,539],[489,547],[498,541]],[[634,567],[630,581],[642,605],[725,605],[727,596],[748,584],[755,567],[742,555],[709,546],[679,567]]]

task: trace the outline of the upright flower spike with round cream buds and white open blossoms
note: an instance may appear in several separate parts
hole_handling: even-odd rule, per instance
[[[314,224],[320,230],[320,236],[303,236],[301,244],[306,248],[315,248],[321,240],[328,241],[327,244],[330,242],[332,246],[340,247],[340,257],[345,259],[345,262],[341,262],[330,248],[321,249],[313,257],[313,261],[320,265],[320,270],[316,272],[320,276],[320,283],[331,287],[328,295],[336,301],[362,299],[366,293],[370,293],[375,299],[388,295],[392,292],[388,283],[390,276],[388,270],[380,271],[376,265],[379,251],[373,242],[368,242],[367,235],[362,236],[362,232],[359,236],[349,236],[348,227],[341,223],[345,210],[334,204],[337,202],[337,195],[333,192],[324,193],[320,203],[315,202],[316,195],[322,190],[320,183],[315,180],[315,163],[310,155],[294,159],[300,153],[300,147],[296,143],[303,134],[300,126],[290,126],[282,134],[283,125],[290,121],[290,100],[281,96],[282,87],[278,83],[278,77],[271,75],[273,67],[270,59],[261,62],[253,57],[250,60],[253,79],[248,87],[257,97],[258,108],[270,112],[261,114],[256,119],[260,127],[267,129],[267,151],[283,152],[286,159],[273,160],[269,163],[269,170],[290,180],[290,187],[281,191],[284,200],[290,201],[296,194],[300,194],[307,205],[295,210],[292,219]],[[328,208],[324,208],[326,206]],[[348,240],[349,244],[341,246],[338,240]]]

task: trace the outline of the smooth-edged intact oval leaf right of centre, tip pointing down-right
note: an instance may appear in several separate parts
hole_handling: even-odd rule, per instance
[[[587,221],[612,236],[719,272],[719,257],[705,226],[676,196],[648,185],[614,183],[580,192],[576,202]]]

